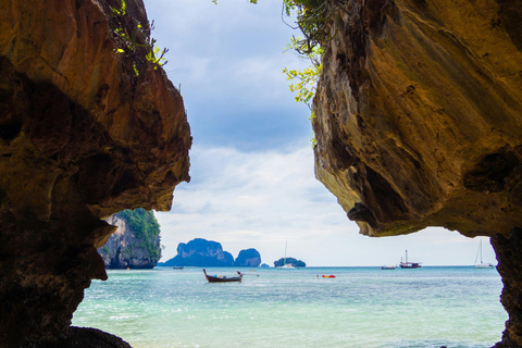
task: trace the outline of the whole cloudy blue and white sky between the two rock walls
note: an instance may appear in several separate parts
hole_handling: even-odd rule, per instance
[[[157,212],[163,258],[194,238],[237,257],[256,248],[263,263],[284,257],[310,266],[397,264],[408,249],[423,265],[472,265],[480,238],[439,227],[371,238],[314,177],[310,111],[296,103],[283,69],[308,63],[285,51],[299,36],[282,18],[282,0],[145,0],[152,36],[181,89],[194,137],[190,183]],[[285,18],[291,24],[291,18]],[[485,262],[496,263],[488,238]]]

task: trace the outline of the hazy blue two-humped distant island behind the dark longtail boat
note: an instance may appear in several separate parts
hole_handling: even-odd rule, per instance
[[[162,266],[200,266],[227,268],[252,266],[261,264],[261,256],[256,249],[241,250],[236,260],[228,251],[224,251],[220,243],[196,238],[177,246],[177,256],[158,265]]]

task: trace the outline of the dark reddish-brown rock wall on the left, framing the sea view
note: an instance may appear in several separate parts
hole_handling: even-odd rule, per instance
[[[70,325],[107,278],[101,219],[169,210],[189,179],[183,99],[146,58],[141,0],[125,3],[0,4],[0,347],[88,336]]]

